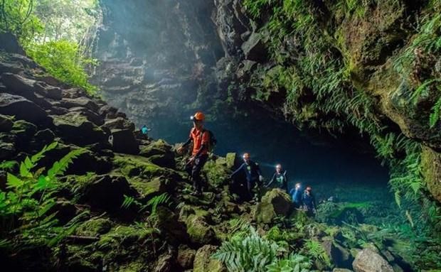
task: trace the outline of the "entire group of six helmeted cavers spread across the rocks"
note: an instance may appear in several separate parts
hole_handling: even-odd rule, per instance
[[[203,128],[205,116],[201,111],[191,116],[191,120],[193,121],[193,128],[190,130],[190,135],[187,141],[177,149],[177,152],[183,154],[186,148],[193,143],[191,157],[186,162],[185,170],[193,181],[191,195],[200,196],[203,189],[201,170],[208,160],[208,153],[216,145],[216,138],[211,131]],[[141,131],[142,134],[147,135],[149,129],[147,129],[147,126],[143,126]],[[245,191],[243,196],[245,200],[256,202],[258,196],[261,195],[262,187],[280,188],[292,197],[292,203],[296,209],[305,210],[310,216],[315,214],[316,202],[311,186],[307,186],[303,190],[302,185],[297,183],[294,188],[288,191],[287,171],[283,171],[280,164],[276,165],[271,180],[267,184],[263,184],[264,178],[259,164],[251,160],[249,153],[243,154],[242,158],[243,164],[229,178],[233,180],[233,190],[238,191],[241,188]]]

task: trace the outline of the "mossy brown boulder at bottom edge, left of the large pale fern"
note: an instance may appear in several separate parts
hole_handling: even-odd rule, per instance
[[[211,246],[209,244],[198,249],[194,257],[193,272],[226,272],[227,269],[223,266],[221,261],[211,258],[216,252],[216,249],[218,249],[217,246]]]

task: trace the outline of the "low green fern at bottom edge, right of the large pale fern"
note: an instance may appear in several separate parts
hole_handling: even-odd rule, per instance
[[[267,272],[308,272],[312,267],[311,261],[300,254],[290,254],[286,259],[280,259],[267,266]]]

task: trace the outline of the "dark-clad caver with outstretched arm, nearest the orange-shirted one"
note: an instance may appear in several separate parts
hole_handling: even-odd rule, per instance
[[[247,199],[256,200],[257,195],[253,195],[253,188],[256,184],[260,185],[260,182],[263,180],[262,172],[260,171],[259,164],[251,161],[249,153],[243,154],[242,158],[243,164],[230,175],[230,178],[235,178],[239,173],[245,173]]]

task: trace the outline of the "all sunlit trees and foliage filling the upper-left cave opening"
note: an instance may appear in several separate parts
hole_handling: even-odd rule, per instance
[[[100,17],[96,0],[1,0],[0,32],[18,37],[26,53],[62,82],[90,94],[87,69],[96,61],[85,46],[90,28]]]

